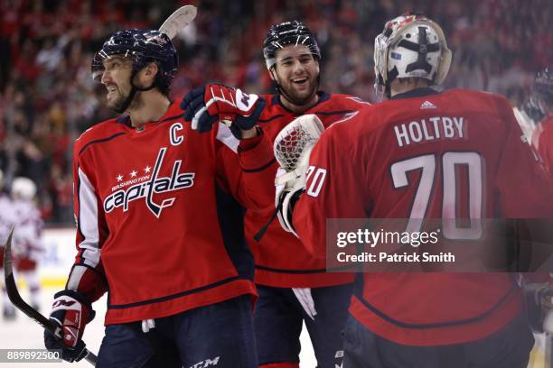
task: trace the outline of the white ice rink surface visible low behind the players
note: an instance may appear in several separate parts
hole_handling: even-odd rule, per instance
[[[42,289],[41,313],[45,316],[50,313],[53,294],[59,291],[58,289],[48,288]],[[21,290],[23,299],[28,300],[25,290]],[[98,348],[104,336],[104,314],[106,312],[106,297],[99,299],[94,303],[94,308],[97,312],[96,318],[85,329],[84,341],[89,350],[98,354]],[[1,318],[1,317],[0,317]],[[313,348],[309,341],[309,336],[304,328],[301,336],[302,352],[300,354],[301,368],[314,368],[315,359]],[[0,349],[42,349],[42,327],[23,313],[18,312],[17,317],[12,321],[0,319]],[[75,367],[87,368],[90,363],[82,360],[77,363],[0,363],[1,368],[26,368],[28,366],[36,366],[36,368],[53,368],[53,367]],[[188,368],[188,367],[185,367]],[[237,367],[238,368],[238,367]]]

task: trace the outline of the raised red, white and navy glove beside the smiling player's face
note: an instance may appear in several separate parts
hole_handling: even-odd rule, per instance
[[[246,94],[239,88],[208,84],[188,92],[181,108],[186,110],[184,120],[192,121],[192,129],[209,132],[213,124],[222,121],[240,139],[242,130],[256,125],[265,105],[266,101],[258,95]]]

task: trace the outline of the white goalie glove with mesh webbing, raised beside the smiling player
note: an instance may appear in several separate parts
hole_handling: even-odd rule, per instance
[[[292,210],[299,195],[305,191],[309,156],[323,131],[323,123],[317,115],[302,115],[278,133],[273,146],[280,164],[275,178],[278,222],[295,236]]]

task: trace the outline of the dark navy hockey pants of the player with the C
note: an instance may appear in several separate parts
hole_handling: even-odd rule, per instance
[[[241,296],[171,317],[106,327],[97,368],[257,368],[251,298]]]

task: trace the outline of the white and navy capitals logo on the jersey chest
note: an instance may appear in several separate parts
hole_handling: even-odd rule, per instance
[[[139,198],[145,198],[146,207],[155,217],[159,218],[165,207],[173,206],[176,198],[167,198],[161,203],[156,203],[154,198],[155,193],[190,188],[194,185],[195,174],[193,172],[179,172],[183,164],[182,160],[174,161],[170,177],[158,177],[166,151],[167,148],[164,147],[157,153],[154,172],[152,172],[152,176],[148,181],[138,183],[127,189],[117,190],[104,199],[104,210],[106,213],[113,211],[117,207],[123,207],[123,212],[127,212],[130,202]]]

